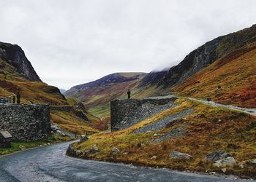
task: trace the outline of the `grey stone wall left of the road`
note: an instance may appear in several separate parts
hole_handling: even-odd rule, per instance
[[[50,135],[48,105],[0,104],[0,130],[13,141],[34,141]]]

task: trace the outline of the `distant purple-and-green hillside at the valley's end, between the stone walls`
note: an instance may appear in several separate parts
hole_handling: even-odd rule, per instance
[[[95,116],[105,117],[110,114],[110,100],[126,98],[128,89],[132,90],[133,97],[134,88],[145,75],[144,73],[110,74],[94,82],[72,87],[64,92],[64,95],[82,102]]]

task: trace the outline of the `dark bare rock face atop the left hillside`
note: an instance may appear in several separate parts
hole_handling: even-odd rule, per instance
[[[18,45],[0,42],[0,59],[17,69],[18,74],[33,82],[41,82],[25,53]]]

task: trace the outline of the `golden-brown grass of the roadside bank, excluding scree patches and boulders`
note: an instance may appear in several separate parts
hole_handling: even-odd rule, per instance
[[[214,108],[192,100],[178,99],[179,106],[167,109],[151,118],[139,122],[124,130],[108,134],[91,135],[89,141],[75,143],[75,148],[81,151],[91,149],[94,144],[99,152],[89,156],[89,159],[127,162],[137,165],[169,167],[178,170],[194,170],[205,172],[221,170],[206,162],[204,157],[211,151],[224,149],[238,161],[256,158],[256,117],[226,108]],[[193,108],[193,113],[176,120],[164,130],[136,133],[143,125],[156,122],[164,116],[175,114],[186,108]],[[219,120],[220,119],[220,120]],[[218,120],[220,122],[218,122]],[[161,134],[177,127],[182,127],[186,134],[181,137],[169,138],[159,143],[152,142]],[[121,154],[110,154],[111,147],[116,146]],[[177,161],[169,158],[170,151],[181,151],[191,154],[191,161]],[[157,160],[151,159],[154,155]],[[227,174],[255,177],[256,168],[227,167]]]

